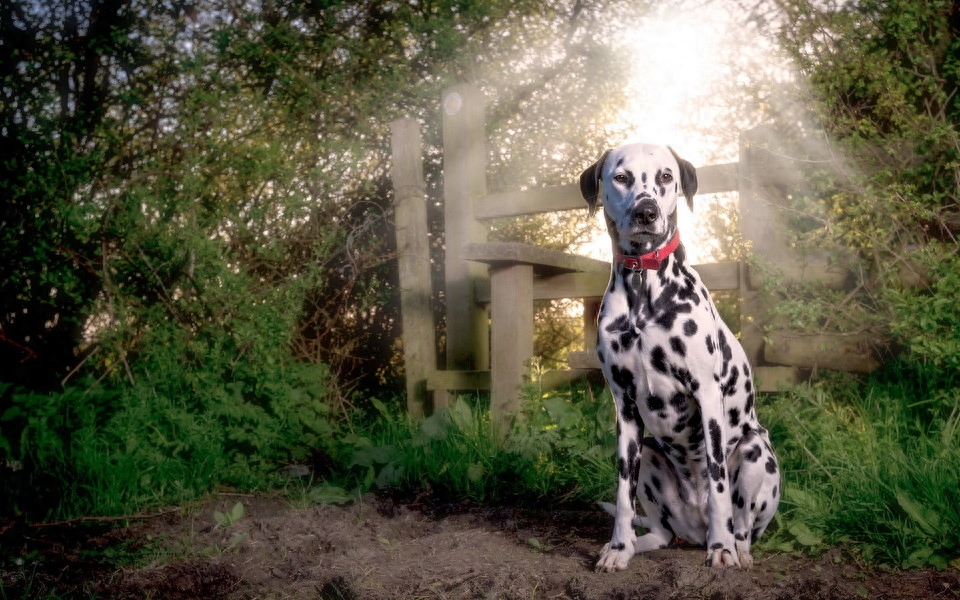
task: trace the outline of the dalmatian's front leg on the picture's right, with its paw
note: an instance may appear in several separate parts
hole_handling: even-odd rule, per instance
[[[718,387],[706,386],[707,393],[700,398],[703,431],[706,438],[707,473],[707,558],[712,567],[739,567],[734,550],[733,502],[730,473],[727,469],[727,439],[723,427],[723,396]]]

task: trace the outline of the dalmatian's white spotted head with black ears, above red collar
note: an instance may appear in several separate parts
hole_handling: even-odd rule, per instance
[[[649,252],[673,235],[680,196],[693,209],[697,170],[668,146],[628,144],[607,150],[580,174],[580,193],[624,252]]]

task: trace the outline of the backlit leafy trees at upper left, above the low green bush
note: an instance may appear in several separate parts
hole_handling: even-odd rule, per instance
[[[155,319],[222,317],[200,278],[219,263],[253,297],[310,278],[297,352],[379,385],[398,321],[386,124],[420,118],[435,148],[440,89],[471,80],[491,100],[494,181],[558,177],[598,146],[577,139],[599,132],[601,11],[579,1],[2,10],[12,383],[57,387],[81,365],[135,379]],[[517,176],[538,146],[559,150]],[[432,193],[440,162],[432,150]]]

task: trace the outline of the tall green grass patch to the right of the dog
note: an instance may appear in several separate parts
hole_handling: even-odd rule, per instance
[[[866,386],[835,378],[761,405],[785,477],[765,547],[844,544],[904,568],[957,557],[960,394],[918,381],[891,369]]]

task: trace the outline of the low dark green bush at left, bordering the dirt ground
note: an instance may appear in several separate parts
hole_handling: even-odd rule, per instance
[[[107,332],[104,353],[111,336],[139,338],[105,358],[117,376],[48,394],[3,388],[0,450],[20,467],[4,486],[7,510],[123,514],[215,486],[263,488],[331,443],[335,387],[323,365],[291,357],[299,293],[249,301],[242,274],[220,281],[237,287],[177,305],[181,317],[191,305],[216,309],[215,322],[154,317]]]

